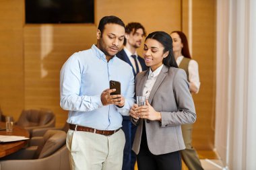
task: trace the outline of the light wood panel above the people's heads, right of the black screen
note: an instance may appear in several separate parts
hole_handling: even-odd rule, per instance
[[[139,22],[147,35],[155,31],[181,30],[181,0],[97,0],[97,21],[104,15],[117,15],[125,24]],[[143,46],[138,53],[142,53]]]

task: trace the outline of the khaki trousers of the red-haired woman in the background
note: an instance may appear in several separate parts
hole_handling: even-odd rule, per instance
[[[192,128],[193,124],[181,125],[183,140],[186,146],[185,150],[181,151],[181,156],[189,170],[200,170],[203,169],[203,167],[201,167],[197,152],[192,146]]]

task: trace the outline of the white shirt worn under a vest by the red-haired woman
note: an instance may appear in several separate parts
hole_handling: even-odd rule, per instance
[[[176,60],[177,65],[179,66],[181,64],[181,60],[183,60],[184,56],[179,56]],[[189,62],[189,82],[193,83],[195,87],[197,87],[197,93],[199,91],[200,87],[200,81],[199,81],[199,72],[198,72],[198,64],[195,60],[190,60]]]

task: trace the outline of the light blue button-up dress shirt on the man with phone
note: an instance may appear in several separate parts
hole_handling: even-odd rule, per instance
[[[109,88],[109,81],[121,83],[125,105],[102,105],[100,95]],[[129,116],[134,103],[134,77],[129,64],[114,56],[108,62],[95,45],[89,50],[75,52],[61,69],[61,108],[69,110],[67,122],[96,128],[117,130],[122,116]]]

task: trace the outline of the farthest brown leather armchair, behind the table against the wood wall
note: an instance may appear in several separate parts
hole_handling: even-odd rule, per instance
[[[16,125],[24,127],[31,134],[34,128],[55,126],[55,114],[50,110],[23,110]]]

